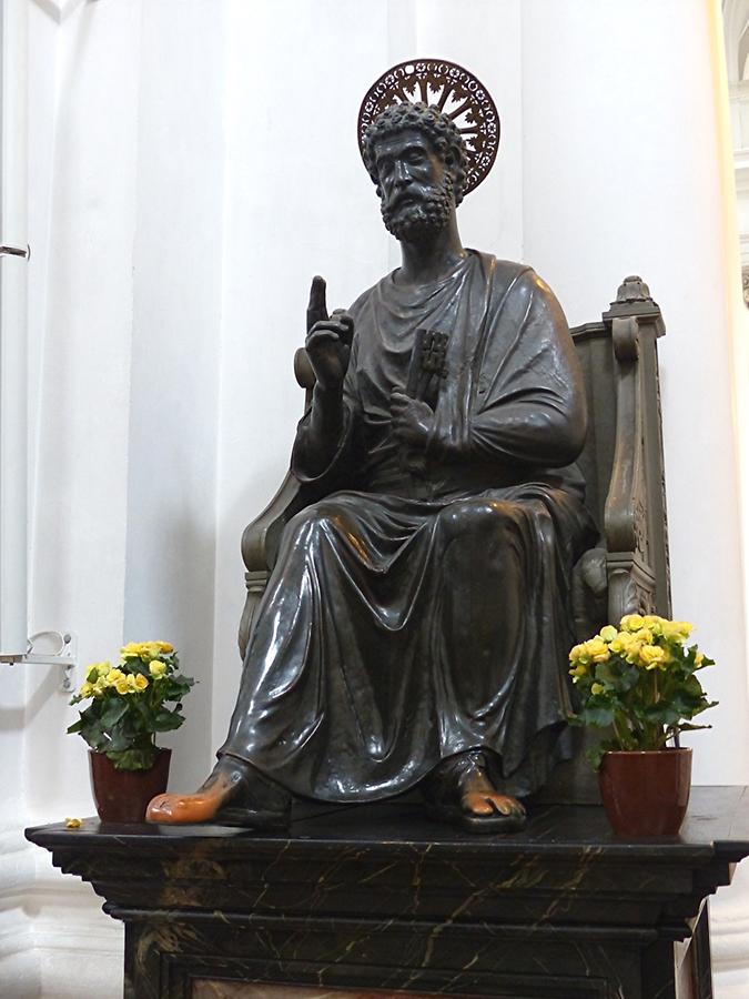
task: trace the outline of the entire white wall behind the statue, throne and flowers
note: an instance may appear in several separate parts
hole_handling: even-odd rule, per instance
[[[396,263],[355,121],[367,85],[415,53],[466,64],[499,107],[465,242],[533,263],[574,323],[631,272],[664,309],[675,610],[720,663],[697,779],[746,781],[716,9],[466,0],[458,31],[449,0],[95,0],[61,23],[31,3],[32,625],[75,630],[83,662],[125,638],[178,645],[201,685],[173,787],[201,779],[225,734],[239,542],[287,465],[310,280],[327,278],[334,307]],[[92,813],[83,744],[63,735],[75,713],[51,669],[24,669],[0,685],[23,774],[22,794],[0,778],[14,808],[0,851],[22,858],[0,885],[0,991],[101,999],[118,993],[120,929],[19,835]],[[740,886],[725,897],[719,944],[749,914]],[[72,940],[89,936],[100,959],[81,962]],[[718,999],[749,989],[737,940]]]

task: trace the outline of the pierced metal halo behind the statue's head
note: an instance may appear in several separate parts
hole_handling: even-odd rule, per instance
[[[423,101],[451,118],[466,148],[464,193],[473,191],[494,165],[499,147],[499,114],[483,83],[455,62],[411,59],[399,62],[372,84],[358,111],[358,150],[364,159],[364,137],[385,108]]]

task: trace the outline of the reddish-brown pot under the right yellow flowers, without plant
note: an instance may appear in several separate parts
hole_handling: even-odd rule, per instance
[[[691,749],[606,753],[598,771],[617,836],[676,836],[687,814]]]

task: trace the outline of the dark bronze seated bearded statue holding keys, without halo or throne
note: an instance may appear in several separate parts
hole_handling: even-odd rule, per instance
[[[293,796],[418,787],[438,820],[510,830],[559,758],[585,393],[546,284],[460,242],[454,118],[402,99],[364,135],[402,265],[331,316],[313,281],[292,471],[320,498],[285,527],[213,773],[150,821],[282,827]]]

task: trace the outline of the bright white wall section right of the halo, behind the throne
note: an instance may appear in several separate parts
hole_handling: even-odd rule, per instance
[[[614,0],[524,3],[525,256],[571,323],[596,319],[632,273],[662,309],[674,613],[698,624],[696,637],[720,664],[705,675],[720,706],[712,731],[694,738],[695,780],[743,784],[747,652],[728,301],[740,292],[736,222],[728,255],[723,211],[731,153],[718,142],[726,97],[713,60],[722,42],[708,43],[705,3],[642,4],[608,37],[618,9]],[[664,58],[666,38],[689,67],[688,88]],[[566,85],[549,88],[549,79]]]

